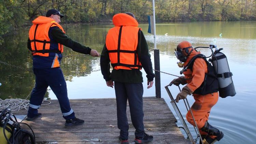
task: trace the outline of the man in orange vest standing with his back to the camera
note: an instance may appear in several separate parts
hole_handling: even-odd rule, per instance
[[[113,23],[115,27],[110,29],[106,36],[100,66],[106,85],[113,88],[115,82],[119,140],[122,144],[129,143],[129,125],[126,116],[128,99],[132,124],[136,129],[134,142],[150,142],[153,136],[145,133],[143,125],[143,78],[140,71],[143,68],[147,73],[147,88],[151,88],[155,74],[148,46],[132,13],[114,15]],[[110,62],[113,67],[111,73]]]

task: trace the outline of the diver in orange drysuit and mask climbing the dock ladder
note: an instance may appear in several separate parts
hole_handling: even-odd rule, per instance
[[[185,99],[187,95],[193,94],[195,102],[191,111],[195,117],[196,124],[202,136],[204,144],[213,144],[223,138],[224,134],[208,123],[211,108],[218,101],[218,81],[215,71],[205,56],[197,52],[187,41],[177,45],[176,57],[184,62],[183,74],[175,78],[171,83],[174,85],[185,85],[177,95],[176,102]],[[195,126],[190,111],[186,115],[187,121]]]

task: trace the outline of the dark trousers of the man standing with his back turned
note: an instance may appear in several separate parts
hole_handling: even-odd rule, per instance
[[[135,136],[143,137],[143,85],[142,83],[115,82],[115,94],[117,105],[117,126],[120,129],[120,138],[128,139],[128,120],[126,116],[127,99],[129,101],[131,121],[136,129]]]

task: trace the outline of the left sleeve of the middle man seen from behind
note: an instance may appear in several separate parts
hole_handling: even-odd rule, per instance
[[[110,59],[109,59],[109,52],[106,48],[106,44],[103,47],[103,50],[100,55],[100,69],[105,81],[111,80],[111,73],[110,73]]]

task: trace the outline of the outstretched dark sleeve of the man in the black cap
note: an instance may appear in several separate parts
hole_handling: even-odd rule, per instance
[[[90,54],[91,48],[86,47],[76,41],[73,41],[71,38],[68,37],[61,29],[58,27],[52,27],[51,31],[53,39],[62,45],[65,45],[71,48],[73,51],[82,53],[82,54]]]

